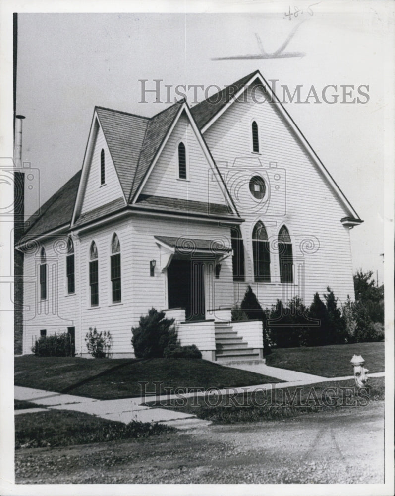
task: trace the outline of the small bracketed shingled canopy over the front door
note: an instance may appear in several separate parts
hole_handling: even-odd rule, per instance
[[[190,236],[154,236],[161,249],[161,270],[165,270],[173,257],[192,258],[207,256],[219,263],[232,252],[230,240],[218,237],[212,240],[192,238]]]

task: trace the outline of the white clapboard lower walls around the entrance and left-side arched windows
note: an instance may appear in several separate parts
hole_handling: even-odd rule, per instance
[[[112,303],[110,274],[111,240],[116,233],[120,242],[121,254],[121,295],[119,304]],[[56,239],[44,244],[49,268],[48,300],[38,302],[38,265],[40,247],[37,254],[26,254],[25,277],[32,283],[25,284],[24,353],[30,353],[32,340],[40,336],[40,329],[47,335],[65,332],[67,327],[75,327],[76,353],[87,354],[85,336],[89,328],[110,331],[113,338],[111,352],[132,354],[131,327],[137,326],[139,318],[146,315],[151,307],[157,310],[168,308],[167,274],[160,268],[160,248],[154,236],[190,236],[201,239],[229,238],[229,228],[218,224],[180,221],[158,217],[131,216],[129,219],[114,222],[111,226],[81,234],[74,238],[75,251],[75,294],[67,295],[65,240]],[[99,306],[90,306],[89,250],[92,241],[98,249],[99,267]],[[63,247],[63,248],[59,248]],[[150,277],[150,260],[157,265],[155,276]],[[211,269],[210,269],[211,265]],[[52,268],[54,266],[54,268]],[[231,258],[222,262],[220,279],[214,279],[213,263],[207,263],[205,289],[206,309],[230,306],[233,299]],[[211,306],[210,295],[216,298]],[[37,303],[38,302],[38,303]],[[45,313],[47,308],[47,313]],[[37,313],[36,310],[42,313]],[[211,318],[211,316],[209,317]],[[207,348],[208,349],[208,348]]]

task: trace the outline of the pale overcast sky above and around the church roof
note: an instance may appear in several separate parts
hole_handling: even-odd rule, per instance
[[[313,15],[309,2],[290,3],[291,12],[295,5],[304,7],[291,20],[280,3],[263,4],[261,13],[251,14],[19,14],[17,114],[26,116],[23,160],[40,171],[40,203],[81,168],[95,105],[149,117],[166,107],[152,103],[152,94],[149,103],[139,103],[139,79],[223,87],[259,69],[291,93],[302,85],[302,101],[311,85],[322,101],[322,89],[333,84],[340,94],[336,104],[311,98],[285,107],[365,221],[350,233],[354,270],[379,269],[381,283],[389,96],[383,80],[393,70],[385,56],[393,20],[390,10],[386,15],[380,4],[377,11],[375,3],[336,2],[338,12],[332,2],[319,3],[311,7]],[[259,52],[255,33],[273,52],[301,21],[285,51],[304,57],[212,60]],[[368,85],[369,101],[340,103],[340,85],[354,85],[353,96],[358,86]],[[27,211],[34,206],[28,197]]]

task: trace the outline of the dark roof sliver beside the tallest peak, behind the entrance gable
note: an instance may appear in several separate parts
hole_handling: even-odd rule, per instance
[[[245,86],[248,81],[255,75],[258,74],[259,70],[255,70],[248,74],[248,76],[242,77],[238,81],[229,86],[226,86],[223,90],[211,95],[203,102],[198,103],[191,108],[191,113],[196,121],[196,124],[201,129],[204,127],[220,110],[225,107],[229,100],[238,93],[243,86]]]

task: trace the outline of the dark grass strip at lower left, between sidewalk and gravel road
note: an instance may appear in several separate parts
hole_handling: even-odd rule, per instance
[[[126,425],[72,410],[48,410],[15,416],[15,449],[147,437],[173,430],[156,423]]]

